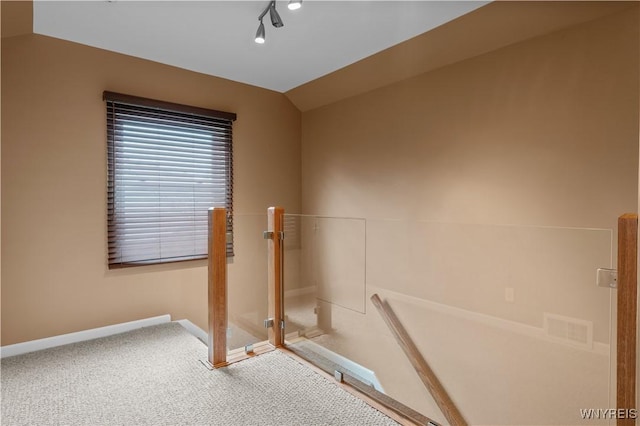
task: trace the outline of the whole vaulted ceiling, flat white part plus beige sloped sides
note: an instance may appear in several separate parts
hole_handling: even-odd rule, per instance
[[[509,44],[596,19],[633,1],[2,1],[2,36],[31,32],[285,95],[302,111]],[[28,31],[26,28],[28,27]]]

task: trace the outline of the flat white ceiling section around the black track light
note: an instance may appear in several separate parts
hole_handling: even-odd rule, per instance
[[[268,0],[36,0],[33,30],[286,92],[488,2],[305,0],[296,11],[287,3],[276,3],[284,27],[265,16],[263,45],[253,38]]]

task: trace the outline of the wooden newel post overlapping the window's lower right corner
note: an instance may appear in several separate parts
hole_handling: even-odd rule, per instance
[[[209,209],[209,363],[227,365],[227,209]]]

